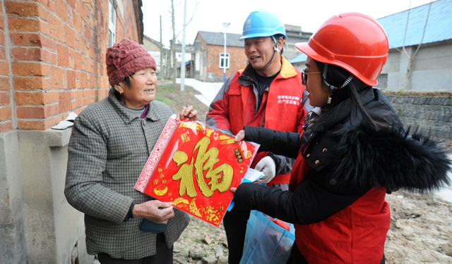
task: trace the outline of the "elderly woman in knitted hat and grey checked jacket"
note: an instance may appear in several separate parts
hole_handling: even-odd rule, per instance
[[[122,39],[107,49],[106,63],[112,89],[74,122],[64,194],[85,213],[87,251],[100,263],[172,264],[189,216],[133,187],[174,112],[154,101],[156,64],[143,46]],[[198,113],[189,106],[177,116],[184,117]],[[163,229],[141,231],[143,218]]]

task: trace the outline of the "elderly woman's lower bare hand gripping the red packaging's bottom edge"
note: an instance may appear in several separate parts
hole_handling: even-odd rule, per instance
[[[167,224],[169,218],[174,218],[172,202],[153,200],[136,204],[133,208],[133,218],[146,218],[157,224]]]

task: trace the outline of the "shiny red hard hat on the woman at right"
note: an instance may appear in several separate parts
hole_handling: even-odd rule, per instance
[[[370,86],[378,84],[389,50],[383,27],[362,13],[333,15],[308,42],[295,46],[316,61],[345,68]]]

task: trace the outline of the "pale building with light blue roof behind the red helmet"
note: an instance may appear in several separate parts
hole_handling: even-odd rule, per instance
[[[379,88],[451,92],[452,0],[439,0],[377,19],[389,41]],[[408,23],[407,23],[408,21]],[[307,56],[290,61],[304,69]]]

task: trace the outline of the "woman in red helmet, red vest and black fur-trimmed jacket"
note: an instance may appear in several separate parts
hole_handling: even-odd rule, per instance
[[[367,15],[327,20],[309,42],[302,82],[311,106],[302,134],[244,127],[236,140],[297,157],[289,191],[241,184],[235,206],[295,224],[287,263],[384,263],[391,216],[386,193],[450,184],[451,161],[436,142],[410,136],[377,84],[388,56],[381,25]]]

